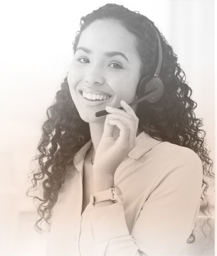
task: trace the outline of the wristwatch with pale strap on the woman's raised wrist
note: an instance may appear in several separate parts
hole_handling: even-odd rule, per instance
[[[111,200],[114,203],[123,202],[123,194],[118,186],[113,186],[108,190],[101,191],[90,196],[90,202],[92,205],[107,200]]]

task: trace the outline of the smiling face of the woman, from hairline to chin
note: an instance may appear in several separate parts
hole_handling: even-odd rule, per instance
[[[140,67],[134,35],[114,21],[91,23],[81,34],[67,78],[80,117],[103,122],[97,111],[134,101]]]

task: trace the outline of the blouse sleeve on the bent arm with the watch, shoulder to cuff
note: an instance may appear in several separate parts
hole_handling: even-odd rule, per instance
[[[95,255],[179,255],[194,228],[202,192],[202,162],[178,155],[155,181],[131,234],[122,203],[96,208],[89,218]]]

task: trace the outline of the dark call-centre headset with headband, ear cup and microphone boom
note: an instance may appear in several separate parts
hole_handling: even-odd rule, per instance
[[[163,59],[162,46],[161,46],[158,32],[154,29],[154,27],[150,22],[149,24],[151,25],[155,34],[157,34],[157,37],[158,37],[158,66],[153,76],[143,77],[140,80],[140,82],[138,82],[137,89],[136,89],[136,95],[138,97],[138,100],[129,103],[128,104],[129,106],[133,106],[145,100],[147,100],[150,103],[155,103],[155,102],[158,102],[163,95],[164,86],[163,86],[162,80],[159,78],[162,59]],[[122,107],[118,109],[123,110]],[[101,117],[102,115],[106,115],[106,114],[108,114],[106,110],[101,110],[95,113],[96,117]]]

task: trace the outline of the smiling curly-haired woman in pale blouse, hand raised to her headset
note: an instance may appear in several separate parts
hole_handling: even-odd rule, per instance
[[[213,174],[176,55],[152,21],[116,4],[81,18],[73,49],[33,175],[48,254],[183,253]],[[157,70],[162,97],[131,108]]]

